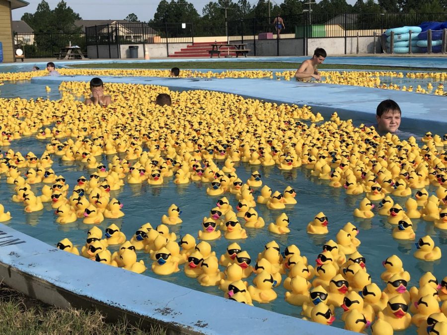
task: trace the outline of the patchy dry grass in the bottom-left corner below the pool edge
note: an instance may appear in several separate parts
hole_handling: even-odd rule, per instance
[[[126,320],[117,320],[115,323],[106,323],[104,320],[98,311],[56,308],[30,299],[0,283],[1,335],[166,335],[160,326],[145,332]]]

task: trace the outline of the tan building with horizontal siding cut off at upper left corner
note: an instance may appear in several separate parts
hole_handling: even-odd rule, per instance
[[[12,9],[25,7],[29,2],[23,0],[0,0],[0,42],[2,62],[14,62],[12,36]]]

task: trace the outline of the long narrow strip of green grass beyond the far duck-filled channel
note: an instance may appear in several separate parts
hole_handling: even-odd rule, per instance
[[[171,68],[173,66],[184,69],[209,68],[209,69],[297,69],[300,63],[284,62],[172,62],[172,63],[83,63],[72,64],[73,68]],[[319,69],[351,69],[351,70],[420,70],[438,71],[435,67],[385,67],[375,65],[348,65],[348,64],[321,64]]]

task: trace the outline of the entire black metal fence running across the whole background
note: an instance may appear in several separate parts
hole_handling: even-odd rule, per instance
[[[194,43],[197,37],[226,36],[228,41],[255,41],[258,39],[307,39],[329,37],[379,36],[385,29],[419,25],[425,21],[447,21],[447,13],[384,13],[338,15],[301,13],[281,17],[258,17],[222,24],[197,25],[193,23],[111,23],[86,27],[85,33],[14,33],[15,47],[27,58],[51,58],[61,48],[78,45],[82,52],[91,45],[134,43]]]

